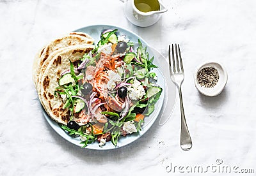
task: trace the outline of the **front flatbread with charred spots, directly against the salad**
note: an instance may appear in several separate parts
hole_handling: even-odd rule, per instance
[[[45,69],[42,80],[38,86],[41,87],[41,101],[45,110],[54,121],[67,125],[70,120],[70,112],[63,108],[65,103],[60,96],[55,97],[54,91],[58,87],[61,73],[70,69],[69,61],[75,62],[90,52],[94,45],[76,45],[54,55]]]

